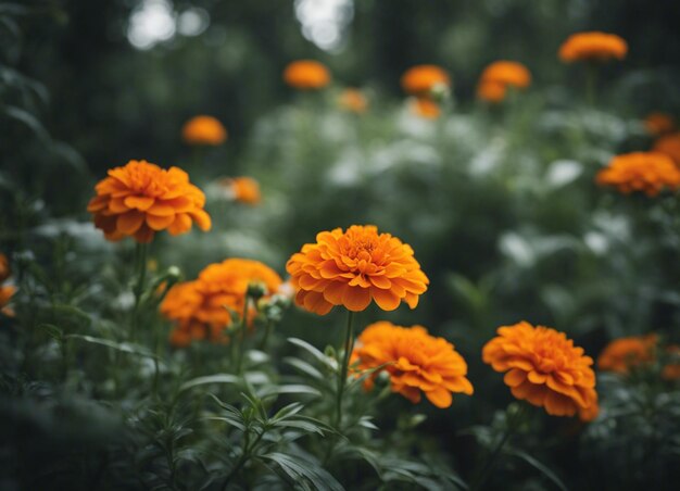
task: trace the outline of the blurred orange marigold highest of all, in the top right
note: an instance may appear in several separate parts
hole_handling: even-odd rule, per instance
[[[566,63],[622,60],[627,53],[628,43],[621,37],[599,32],[572,34],[559,47],[559,59]]]

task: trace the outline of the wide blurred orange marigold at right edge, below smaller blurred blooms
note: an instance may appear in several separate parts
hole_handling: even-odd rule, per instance
[[[663,153],[633,152],[612,159],[609,165],[597,173],[595,180],[624,193],[643,191],[653,197],[665,188],[678,189],[680,169]]]

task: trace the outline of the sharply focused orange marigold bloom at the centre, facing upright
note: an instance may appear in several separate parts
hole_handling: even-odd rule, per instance
[[[295,303],[325,315],[335,305],[363,311],[372,300],[385,311],[404,301],[411,309],[429,280],[411,246],[373,225],[352,225],[347,231],[322,231],[316,243],[293,254],[286,269],[298,290]]]

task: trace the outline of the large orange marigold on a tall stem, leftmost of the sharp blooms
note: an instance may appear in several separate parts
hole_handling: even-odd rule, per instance
[[[193,222],[202,230],[211,228],[203,210],[205,196],[178,167],[166,171],[147,161],[129,161],[109,171],[95,189],[87,211],[109,240],[135,237],[151,242],[156,231],[167,229],[177,236],[189,231]]]

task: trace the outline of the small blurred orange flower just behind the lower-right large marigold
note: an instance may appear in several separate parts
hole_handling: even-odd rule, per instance
[[[632,367],[654,362],[657,342],[656,335],[615,339],[600,353],[597,368],[628,374]]]

